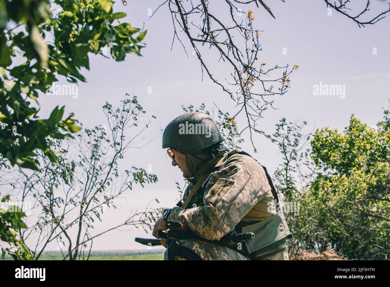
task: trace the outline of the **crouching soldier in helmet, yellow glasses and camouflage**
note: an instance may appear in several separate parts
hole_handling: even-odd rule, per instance
[[[290,237],[282,211],[275,210],[277,193],[269,175],[255,159],[222,145],[218,125],[206,114],[190,112],[171,121],[163,148],[190,184],[177,207],[164,210],[156,232],[167,220],[180,221],[201,239],[172,241],[165,260],[289,260]],[[215,244],[229,232],[254,232],[250,244]],[[206,239],[206,240],[202,240]]]

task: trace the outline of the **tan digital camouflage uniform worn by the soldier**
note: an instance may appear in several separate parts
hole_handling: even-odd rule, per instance
[[[236,148],[226,153],[208,182],[193,195],[188,208],[175,207],[167,219],[180,221],[202,238],[219,240],[228,232],[241,232],[243,226],[275,214],[274,197],[264,169],[252,157],[238,152]],[[183,199],[195,183],[188,185]],[[288,260],[284,239],[280,248],[266,257],[256,257],[256,252],[248,254],[245,244],[240,243],[222,246],[196,239],[181,239],[178,243],[204,260]]]

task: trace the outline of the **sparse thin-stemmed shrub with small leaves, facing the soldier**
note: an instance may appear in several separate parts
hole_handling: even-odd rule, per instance
[[[151,230],[161,211],[129,210],[124,221],[105,226],[102,232],[93,232],[103,213],[117,208],[119,198],[133,190],[135,185],[157,182],[157,176],[143,168],[124,162],[130,148],[141,148],[148,141],[138,139],[149,126],[143,124],[146,113],[135,96],[121,101],[119,107],[106,103],[103,107],[108,125],[84,128],[75,139],[52,141],[51,147],[65,150],[58,154],[58,164],[51,163],[43,152],[41,171],[14,175],[14,191],[18,201],[32,202],[32,212],[38,215],[29,228],[20,232],[25,241],[34,234],[32,258],[37,260],[50,242],[57,242],[63,259],[87,260],[96,237],[120,227]],[[121,170],[121,164],[128,168]],[[0,174],[2,175],[2,174]],[[25,226],[24,228],[27,228]]]

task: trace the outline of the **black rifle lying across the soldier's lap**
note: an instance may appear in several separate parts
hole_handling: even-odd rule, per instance
[[[165,226],[169,229],[168,232],[158,231],[156,235],[160,238],[168,239],[168,240],[176,240],[176,239],[201,239],[206,241],[211,241],[215,244],[227,244],[227,243],[250,243],[250,240],[255,238],[255,234],[253,232],[247,233],[237,233],[237,232],[229,232],[225,236],[223,236],[220,240],[207,240],[198,235],[194,234],[190,230],[188,230],[183,224],[179,221],[170,221],[168,220],[165,223]],[[141,243],[147,246],[158,246],[161,245],[161,239],[149,239],[149,238],[139,238],[135,237],[135,242]]]

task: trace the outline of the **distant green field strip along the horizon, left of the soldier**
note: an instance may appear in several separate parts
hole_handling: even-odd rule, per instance
[[[42,254],[39,260],[62,260],[62,258],[61,253],[56,251]],[[89,260],[163,260],[163,258],[163,251],[92,251]],[[5,260],[13,259],[5,255]]]

